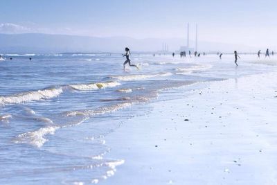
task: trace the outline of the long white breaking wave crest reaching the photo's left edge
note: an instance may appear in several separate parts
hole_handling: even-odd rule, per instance
[[[62,94],[62,88],[42,89],[38,91],[28,91],[11,96],[0,96],[0,105],[26,103],[33,100],[54,98]]]

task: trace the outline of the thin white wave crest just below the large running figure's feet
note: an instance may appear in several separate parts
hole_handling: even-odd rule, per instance
[[[169,72],[164,72],[164,73],[155,73],[155,74],[150,74],[150,75],[128,75],[128,76],[111,76],[110,78],[115,78],[117,80],[121,81],[132,81],[132,80],[142,80],[145,78],[155,78],[155,77],[160,77],[160,76],[171,76],[172,73]]]

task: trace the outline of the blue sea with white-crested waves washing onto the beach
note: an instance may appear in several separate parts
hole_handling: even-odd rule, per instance
[[[125,161],[106,157],[116,148],[105,136],[151,114],[152,102],[276,70],[256,55],[235,67],[233,55],[132,54],[139,70],[123,70],[121,53],[1,55],[0,184],[100,184]]]

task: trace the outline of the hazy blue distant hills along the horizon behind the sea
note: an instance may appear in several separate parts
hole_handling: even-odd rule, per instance
[[[160,51],[166,42],[170,51],[177,51],[185,39],[134,39],[131,37],[85,37],[74,35],[50,35],[42,33],[0,34],[0,53],[64,53],[64,52],[123,52]],[[190,43],[194,43],[190,41]],[[256,51],[249,46],[234,46],[213,42],[199,42],[199,51]]]

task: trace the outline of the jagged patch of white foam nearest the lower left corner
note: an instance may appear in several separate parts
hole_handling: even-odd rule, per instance
[[[23,134],[19,134],[15,139],[15,143],[27,143],[32,146],[36,146],[38,148],[42,147],[43,144],[48,141],[44,138],[46,134],[54,134],[55,130],[60,127],[42,127],[39,130],[35,130],[33,132],[26,132]]]

